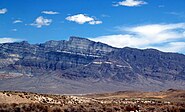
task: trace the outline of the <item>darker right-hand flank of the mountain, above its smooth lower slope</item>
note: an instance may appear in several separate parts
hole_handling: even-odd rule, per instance
[[[140,82],[145,79],[165,82],[185,81],[184,70],[185,56],[182,54],[123,48],[95,59],[86,66],[66,70],[63,75],[119,82]]]

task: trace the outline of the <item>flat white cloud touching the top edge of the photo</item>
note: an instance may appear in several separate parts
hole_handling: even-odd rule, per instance
[[[122,2],[118,2],[114,6],[127,6],[127,7],[135,7],[135,6],[141,6],[147,4],[147,2],[142,0],[125,0]]]

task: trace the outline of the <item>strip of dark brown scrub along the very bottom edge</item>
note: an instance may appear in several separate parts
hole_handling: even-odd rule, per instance
[[[113,105],[113,104],[78,104],[78,105],[48,105],[30,104],[0,104],[0,112],[185,112],[185,105]]]

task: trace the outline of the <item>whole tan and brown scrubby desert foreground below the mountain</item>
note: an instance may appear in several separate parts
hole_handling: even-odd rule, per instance
[[[0,112],[185,112],[185,91],[117,92],[86,96],[0,92]],[[159,96],[163,96],[160,97]],[[164,97],[165,96],[165,97]],[[127,99],[126,99],[127,98]],[[25,102],[22,99],[26,99]],[[176,100],[173,100],[176,99]],[[22,100],[22,101],[21,101]],[[29,103],[27,102],[30,101]],[[171,102],[168,102],[171,100]],[[173,101],[173,102],[172,102]]]

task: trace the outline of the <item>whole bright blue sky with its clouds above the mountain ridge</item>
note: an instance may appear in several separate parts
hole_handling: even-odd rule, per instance
[[[0,0],[0,42],[80,36],[185,53],[185,0]]]

